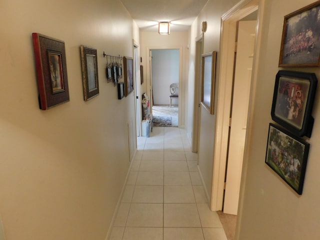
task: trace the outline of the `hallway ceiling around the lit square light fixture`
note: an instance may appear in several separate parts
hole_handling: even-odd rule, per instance
[[[208,0],[120,0],[141,31],[157,31],[170,21],[170,31],[187,31]]]

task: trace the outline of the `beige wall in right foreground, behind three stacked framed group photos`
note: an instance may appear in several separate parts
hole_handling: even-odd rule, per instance
[[[313,0],[265,1],[262,40],[257,75],[255,106],[253,109],[249,158],[244,184],[243,208],[240,211],[238,239],[300,240],[319,239],[320,200],[319,171],[320,107],[315,96],[312,115],[315,119],[311,137],[302,195],[296,194],[265,163],[268,124],[272,122],[270,109],[278,65],[283,16]],[[315,72],[318,67],[286,68]]]

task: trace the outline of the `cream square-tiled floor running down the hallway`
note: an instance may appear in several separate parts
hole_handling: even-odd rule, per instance
[[[137,148],[109,239],[226,240],[186,131],[153,127]]]

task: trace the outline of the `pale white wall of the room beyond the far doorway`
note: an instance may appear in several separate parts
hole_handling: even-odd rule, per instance
[[[179,82],[179,50],[154,49],[151,51],[153,104],[168,105],[171,94],[170,84]],[[178,99],[173,98],[172,104],[178,104]]]

